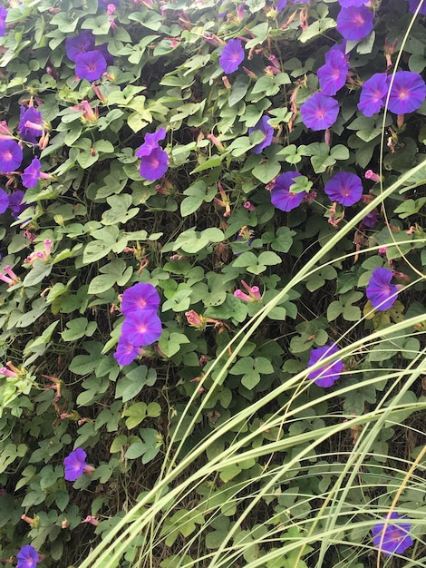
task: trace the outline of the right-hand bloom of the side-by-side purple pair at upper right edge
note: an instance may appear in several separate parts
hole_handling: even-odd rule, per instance
[[[388,78],[389,84],[391,77]],[[426,84],[419,73],[398,71],[393,77],[389,110],[395,114],[417,111],[426,96]]]

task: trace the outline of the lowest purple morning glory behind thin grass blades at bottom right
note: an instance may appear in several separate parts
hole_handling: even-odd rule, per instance
[[[408,521],[406,523],[395,523],[392,519],[405,520],[401,514],[392,512],[383,523],[374,524],[372,531],[374,546],[385,556],[402,554],[413,544],[410,519],[406,519]]]

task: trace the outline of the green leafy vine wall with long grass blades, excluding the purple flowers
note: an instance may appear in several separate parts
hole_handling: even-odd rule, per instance
[[[9,4],[0,142],[23,162],[0,178],[24,199],[0,213],[0,557],[367,568],[373,524],[397,509],[417,539],[407,566],[426,566],[425,103],[357,106],[373,73],[424,72],[424,16],[373,3],[323,132],[300,107],[341,40],[337,0]],[[93,81],[68,56],[84,31],[108,60]],[[232,39],[245,58],[225,73]],[[31,106],[36,142],[18,128]],[[150,181],[136,152],[160,128],[168,170]],[[270,195],[286,171],[304,196],[288,212]],[[338,171],[362,179],[351,206],[324,192]],[[399,286],[382,311],[365,293],[378,268]],[[160,294],[162,333],[121,366],[138,282]],[[307,367],[329,344],[344,369],[324,388]],[[77,447],[94,471],[66,481]]]

